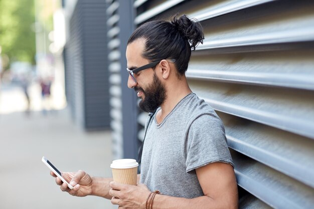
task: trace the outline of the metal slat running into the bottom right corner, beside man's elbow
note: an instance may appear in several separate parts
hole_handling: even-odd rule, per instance
[[[233,153],[238,184],[274,208],[311,208],[312,187],[253,159]]]

